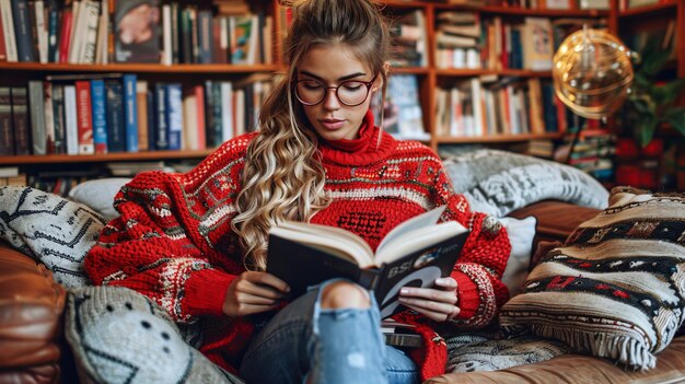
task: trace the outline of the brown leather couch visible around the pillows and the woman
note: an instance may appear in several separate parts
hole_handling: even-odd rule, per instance
[[[594,209],[558,201],[530,205],[510,214],[537,218],[536,242],[564,241]],[[76,383],[62,338],[66,290],[28,256],[0,244],[0,384]],[[627,371],[611,361],[566,354],[496,372],[448,373],[428,383],[685,383],[685,335],[659,353],[657,368]]]

